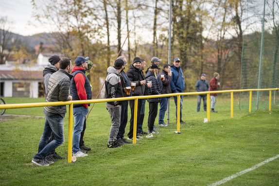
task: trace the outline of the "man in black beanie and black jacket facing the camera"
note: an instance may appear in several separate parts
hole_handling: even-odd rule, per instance
[[[133,96],[143,96],[146,88],[151,86],[152,84],[146,85],[146,80],[143,75],[141,67],[141,60],[140,57],[135,57],[133,60],[133,64],[130,65],[130,68],[127,71],[127,76],[131,83],[136,83],[136,87],[132,92]],[[130,131],[128,133],[128,139],[133,140],[133,133],[134,133],[134,106],[135,100],[130,100],[130,109],[131,109],[131,118],[130,118]],[[142,105],[142,101],[138,102],[138,118],[140,117],[140,108]],[[137,134],[139,132],[139,119],[137,120]],[[142,139],[142,137],[137,135],[137,139]]]

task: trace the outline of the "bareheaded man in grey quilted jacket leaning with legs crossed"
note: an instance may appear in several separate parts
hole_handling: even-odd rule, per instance
[[[71,61],[69,58],[62,58],[59,63],[59,70],[54,72],[49,79],[46,102],[72,100],[72,97],[69,95],[70,79],[72,78],[72,75],[70,75]],[[64,118],[66,113],[66,105],[44,107],[44,114],[48,122],[45,122],[44,132],[39,142],[41,151],[35,154],[32,159],[32,163],[35,165],[49,166],[53,163],[53,161],[46,160],[46,156],[65,141]],[[47,144],[52,133],[54,139]]]

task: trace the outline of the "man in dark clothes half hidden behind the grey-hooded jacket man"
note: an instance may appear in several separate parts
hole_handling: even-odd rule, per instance
[[[131,95],[131,93],[129,95],[127,95],[126,87],[131,86],[131,84],[130,84],[130,80],[129,80],[128,76],[123,71],[127,66],[127,59],[124,56],[119,56],[117,59],[122,59],[123,63],[124,63],[123,68],[120,72],[120,79],[121,79],[121,85],[122,85],[124,97],[129,97]],[[124,143],[126,143],[126,144],[131,143],[130,141],[127,141],[124,138],[125,128],[126,128],[127,121],[128,121],[128,104],[129,104],[128,100],[122,101],[120,127],[119,127],[118,134],[116,136],[118,142],[120,142],[120,140],[121,140],[122,142],[120,142],[120,143],[122,143],[123,145],[124,145]]]

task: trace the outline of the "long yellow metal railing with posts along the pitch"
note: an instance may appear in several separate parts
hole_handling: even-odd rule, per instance
[[[84,104],[84,103],[97,103],[107,101],[124,101],[124,100],[135,100],[134,109],[134,134],[133,144],[136,144],[137,135],[137,113],[138,113],[138,101],[139,99],[148,98],[161,98],[161,97],[172,97],[177,96],[177,118],[180,118],[180,96],[181,95],[198,95],[207,94],[207,117],[210,121],[209,115],[209,93],[230,93],[231,96],[231,118],[233,118],[233,93],[234,92],[250,92],[249,96],[249,113],[251,113],[251,102],[252,102],[252,91],[269,91],[269,111],[271,111],[271,91],[279,90],[279,88],[265,88],[265,89],[241,89],[241,90],[219,90],[219,91],[207,91],[207,92],[185,92],[185,93],[173,93],[173,94],[161,94],[153,96],[132,96],[126,98],[113,98],[113,99],[98,99],[98,100],[81,100],[81,101],[57,101],[57,102],[39,102],[39,103],[18,103],[18,104],[1,104],[0,109],[12,109],[12,108],[30,108],[30,107],[42,107],[42,106],[58,106],[58,105],[69,105],[69,136],[68,136],[68,162],[72,160],[72,121],[73,121],[73,104]],[[177,131],[180,131],[180,119],[177,119]]]

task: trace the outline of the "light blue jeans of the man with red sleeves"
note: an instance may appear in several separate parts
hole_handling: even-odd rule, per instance
[[[80,151],[80,148],[79,148],[80,134],[83,130],[83,124],[86,119],[87,113],[88,113],[88,108],[85,108],[84,106],[73,108],[73,116],[74,116],[74,127],[73,127],[73,133],[72,133],[72,152],[73,153]]]

